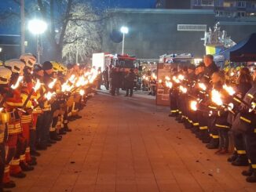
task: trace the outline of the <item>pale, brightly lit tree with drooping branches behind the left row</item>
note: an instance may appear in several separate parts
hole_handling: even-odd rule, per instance
[[[67,62],[86,62],[93,52],[101,51],[102,16],[89,3],[77,4],[71,10],[72,18],[64,35],[62,56]]]

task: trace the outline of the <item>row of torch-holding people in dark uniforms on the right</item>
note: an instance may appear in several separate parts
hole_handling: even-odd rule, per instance
[[[218,69],[213,56],[197,67],[177,69],[161,81],[170,89],[170,117],[176,117],[215,154],[234,153],[228,161],[247,166],[247,182],[256,183],[256,71],[240,68],[237,78]]]

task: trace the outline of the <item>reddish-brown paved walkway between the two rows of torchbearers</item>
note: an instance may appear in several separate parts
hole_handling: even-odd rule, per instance
[[[256,191],[154,100],[101,93],[13,191]]]

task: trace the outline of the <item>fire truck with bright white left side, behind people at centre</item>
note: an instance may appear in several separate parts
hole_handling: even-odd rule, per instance
[[[130,69],[135,68],[135,56],[118,55],[110,53],[93,53],[93,67],[101,68],[103,72],[103,83],[106,89],[109,89],[109,82],[111,81],[111,71],[113,68],[119,68],[123,71],[123,75],[128,73]]]

